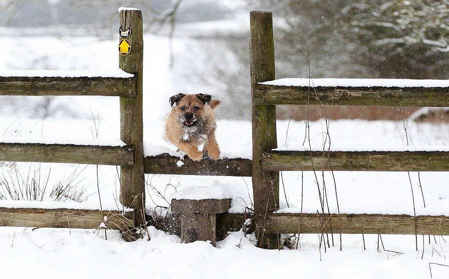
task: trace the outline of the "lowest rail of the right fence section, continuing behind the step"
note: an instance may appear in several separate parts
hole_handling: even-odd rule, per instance
[[[222,213],[217,215],[217,238],[224,238],[228,231],[238,231],[245,220],[245,213]],[[265,233],[341,233],[355,234],[417,234],[449,235],[448,216],[416,216],[406,214],[322,214],[322,213],[268,213]],[[181,220],[178,213],[171,213],[159,227],[179,235]],[[323,225],[324,223],[324,225]],[[301,225],[300,225],[301,224]],[[332,230],[331,230],[332,224]]]

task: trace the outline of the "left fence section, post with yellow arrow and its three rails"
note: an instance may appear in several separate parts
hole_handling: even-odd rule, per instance
[[[125,146],[79,144],[0,143],[0,160],[85,164],[120,167],[120,201],[134,211],[46,209],[0,207],[0,225],[96,228],[105,222],[109,228],[126,230],[143,223],[144,163],[142,117],[143,28],[140,10],[120,11],[122,30],[131,28],[126,40],[132,45],[127,55],[119,55],[123,76],[90,71],[59,71],[44,74],[27,71],[0,77],[0,95],[33,96],[119,96],[120,137]],[[32,76],[29,76],[32,75]],[[68,76],[68,77],[63,77]],[[125,77],[129,76],[129,77]],[[100,141],[101,142],[101,141]]]

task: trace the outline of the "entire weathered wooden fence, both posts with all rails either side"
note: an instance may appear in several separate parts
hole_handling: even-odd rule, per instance
[[[252,92],[253,160],[219,159],[184,160],[169,154],[144,157],[142,131],[142,14],[140,10],[120,11],[122,30],[130,27],[126,38],[129,54],[120,55],[119,65],[131,77],[0,77],[0,95],[104,95],[120,96],[120,135],[125,146],[75,144],[0,143],[0,160],[112,164],[121,166],[120,201],[134,211],[113,216],[117,223],[144,223],[144,173],[252,176],[255,205],[255,231],[260,247],[278,246],[281,233],[331,232],[330,224],[341,224],[342,233],[449,234],[447,216],[410,216],[382,214],[310,214],[273,213],[279,209],[279,171],[313,170],[322,152],[274,151],[276,105],[413,105],[447,106],[447,88],[320,87],[310,96],[305,86],[264,85],[275,79],[272,13],[252,11],[250,65]],[[148,94],[152,92],[147,92]],[[449,152],[427,151],[333,151],[326,154],[332,170],[449,170]],[[331,170],[324,164],[324,170]],[[25,216],[24,214],[32,214]],[[115,219],[114,219],[115,218]],[[223,213],[217,216],[217,232],[237,228],[244,214]],[[99,225],[103,216],[98,210],[0,208],[0,225],[85,227]],[[219,224],[218,224],[219,223]],[[338,226],[337,226],[338,227]],[[336,230],[339,230],[336,228]],[[335,232],[335,231],[334,231]]]

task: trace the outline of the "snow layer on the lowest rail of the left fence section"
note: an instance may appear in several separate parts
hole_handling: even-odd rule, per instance
[[[117,204],[102,204],[103,210],[107,211],[133,211],[128,207],[117,208]],[[84,209],[100,210],[100,203],[75,202],[75,201],[36,201],[36,200],[0,200],[0,207],[6,208],[43,208],[43,209]]]

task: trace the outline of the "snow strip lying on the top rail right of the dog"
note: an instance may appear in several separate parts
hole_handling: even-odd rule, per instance
[[[265,85],[304,87],[449,87],[446,79],[395,79],[395,78],[281,78]]]

